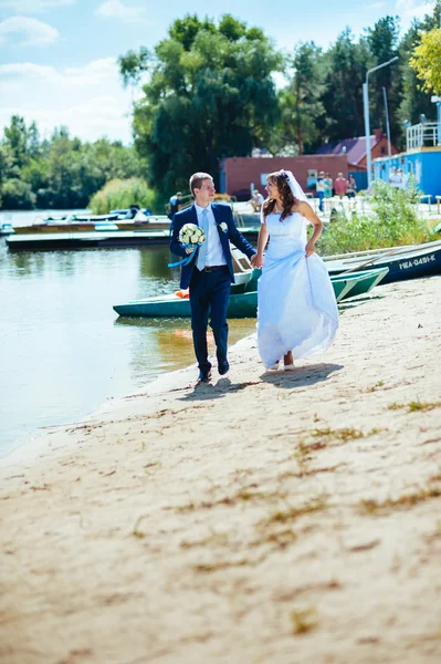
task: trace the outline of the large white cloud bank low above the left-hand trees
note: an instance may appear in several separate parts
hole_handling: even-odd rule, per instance
[[[3,93],[3,94],[2,94]],[[7,93],[7,94],[4,94]],[[1,127],[11,115],[35,121],[42,135],[66,125],[72,136],[96,141],[132,141],[132,93],[122,87],[116,59],[106,58],[84,68],[64,68],[22,62],[0,65]]]

